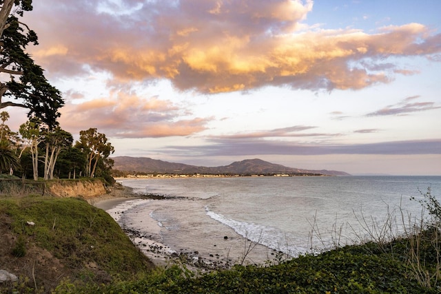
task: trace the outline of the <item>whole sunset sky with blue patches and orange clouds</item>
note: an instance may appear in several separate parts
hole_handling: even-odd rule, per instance
[[[441,176],[441,1],[39,0],[60,125],[113,156]],[[11,129],[26,120],[6,109]]]

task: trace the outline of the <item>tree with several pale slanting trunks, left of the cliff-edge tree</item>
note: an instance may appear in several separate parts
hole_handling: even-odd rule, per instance
[[[64,131],[60,127],[50,131],[45,130],[44,143],[45,143],[45,157],[44,157],[44,179],[52,180],[54,178],[55,163],[60,152],[63,149],[72,147],[74,138],[72,134]]]

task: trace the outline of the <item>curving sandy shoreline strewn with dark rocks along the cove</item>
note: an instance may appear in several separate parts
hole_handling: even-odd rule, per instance
[[[115,192],[116,190],[116,192]],[[173,250],[170,246],[163,243],[161,236],[161,224],[150,216],[137,216],[134,222],[142,222],[145,230],[135,227],[125,227],[121,225],[120,218],[125,217],[124,212],[134,209],[138,205],[150,201],[168,200],[158,195],[142,195],[133,192],[131,187],[123,186],[113,188],[104,197],[92,201],[92,205],[103,209],[120,225],[124,233],[132,240],[132,243],[139,248],[156,266],[169,266],[170,264],[185,264],[194,271],[212,271],[218,269],[229,269],[234,264],[271,264],[280,259],[290,258],[288,255],[270,249],[262,244],[253,243],[247,238],[237,235],[232,229],[226,227],[225,233],[228,239],[222,237],[222,242],[210,244],[212,249],[201,246],[198,250],[177,249]],[[141,214],[141,213],[140,213]],[[202,240],[204,242],[206,240]],[[217,242],[216,242],[217,243]],[[244,245],[251,246],[252,251],[245,252]],[[200,249],[200,250],[199,250]]]

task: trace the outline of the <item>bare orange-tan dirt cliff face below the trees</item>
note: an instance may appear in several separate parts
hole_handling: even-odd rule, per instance
[[[103,196],[107,193],[100,180],[78,180],[52,182],[48,187],[50,193],[58,197],[81,197],[84,199]]]

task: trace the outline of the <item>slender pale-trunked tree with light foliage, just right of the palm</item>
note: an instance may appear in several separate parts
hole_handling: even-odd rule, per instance
[[[41,143],[44,138],[40,133],[40,125],[41,121],[38,118],[33,118],[23,123],[19,130],[25,142],[25,147],[21,150],[21,154],[27,147],[30,149],[34,180],[39,179],[39,143]],[[21,157],[21,154],[19,157]]]

